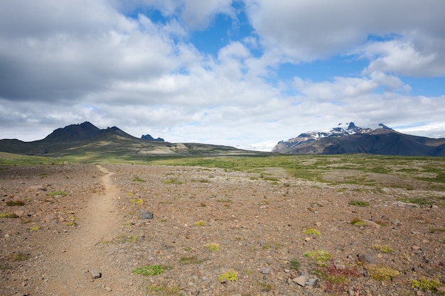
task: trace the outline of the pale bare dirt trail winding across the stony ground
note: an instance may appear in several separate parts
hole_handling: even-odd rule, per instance
[[[112,258],[101,253],[100,244],[122,225],[117,212],[117,190],[112,185],[112,172],[97,165],[102,176],[103,192],[92,194],[80,212],[78,226],[57,241],[48,258],[47,295],[125,295],[119,291],[119,270],[112,270]],[[103,273],[92,280],[91,270]]]

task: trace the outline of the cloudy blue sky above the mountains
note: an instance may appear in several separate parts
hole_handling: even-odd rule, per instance
[[[271,150],[353,121],[445,137],[443,0],[14,0],[0,138],[90,121]]]

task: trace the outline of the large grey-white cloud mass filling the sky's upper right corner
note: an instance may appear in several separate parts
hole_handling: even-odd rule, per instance
[[[395,34],[404,37],[404,44],[390,43],[386,48],[382,48],[385,43],[380,45],[383,56],[372,62],[372,67],[380,71],[408,71],[408,75],[412,72],[444,75],[445,29],[441,12],[445,10],[444,1],[245,2],[252,25],[265,48],[291,57],[295,62],[345,54],[350,48],[364,44],[370,35]],[[379,51],[372,46],[363,50],[365,54],[366,50],[374,54]],[[410,57],[414,57],[412,62],[418,65],[403,65]],[[420,66],[428,66],[428,69],[419,71]]]

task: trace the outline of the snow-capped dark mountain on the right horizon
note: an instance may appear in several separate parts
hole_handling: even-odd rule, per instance
[[[301,133],[279,141],[272,150],[283,154],[372,153],[380,155],[445,156],[445,138],[426,138],[397,132],[383,124],[360,128],[353,122],[329,131]]]

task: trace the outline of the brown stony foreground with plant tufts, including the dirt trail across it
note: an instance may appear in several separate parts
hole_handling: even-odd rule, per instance
[[[0,194],[0,295],[444,292],[445,192],[434,187],[45,165],[1,167]],[[431,197],[441,203],[401,202]]]

